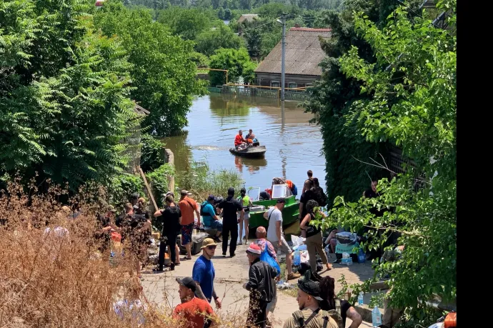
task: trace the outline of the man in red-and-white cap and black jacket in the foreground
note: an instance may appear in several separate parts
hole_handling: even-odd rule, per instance
[[[261,253],[259,245],[255,243],[250,244],[247,249],[250,269],[248,282],[243,285],[244,289],[250,292],[247,327],[265,328],[267,304],[272,301],[276,288],[274,278],[277,276],[277,270],[260,261]]]

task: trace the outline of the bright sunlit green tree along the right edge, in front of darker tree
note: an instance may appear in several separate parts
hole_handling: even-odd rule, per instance
[[[391,275],[390,305],[405,307],[404,327],[427,326],[429,314],[437,315],[418,299],[457,297],[456,6],[455,0],[439,4],[449,13],[448,30],[420,16],[410,19],[407,6],[389,15],[383,29],[360,12],[354,26],[375,58],[368,61],[351,46],[339,60],[342,74],[359,81],[366,95],[342,119],[354,122],[367,142],[399,145],[415,167],[392,181],[382,179],[377,198],[337,197],[324,227],[370,228],[367,248],[382,247],[390,233],[400,236],[402,255],[377,265],[376,277]],[[386,212],[376,217],[372,207]]]

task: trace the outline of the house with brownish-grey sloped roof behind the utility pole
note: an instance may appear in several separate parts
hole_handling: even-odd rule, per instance
[[[320,46],[319,37],[329,39],[330,29],[292,27],[286,33],[285,87],[300,88],[312,85],[322,76],[320,61],[326,54]],[[255,69],[257,84],[281,86],[282,41],[272,49]]]

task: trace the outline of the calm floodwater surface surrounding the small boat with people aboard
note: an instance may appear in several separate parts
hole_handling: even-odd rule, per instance
[[[291,179],[302,189],[307,170],[324,186],[325,161],[321,156],[319,126],[309,124],[312,114],[288,101],[210,94],[194,100],[188,114],[188,132],[164,139],[174,152],[177,171],[190,169],[189,161],[206,159],[211,169],[236,169],[247,187],[270,186],[273,177]],[[266,146],[264,159],[245,159],[229,153],[238,130],[253,129]],[[246,133],[245,133],[246,134]]]

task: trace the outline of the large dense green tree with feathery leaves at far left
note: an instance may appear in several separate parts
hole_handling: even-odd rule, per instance
[[[39,182],[106,182],[138,129],[124,47],[80,0],[0,6],[0,172]]]

